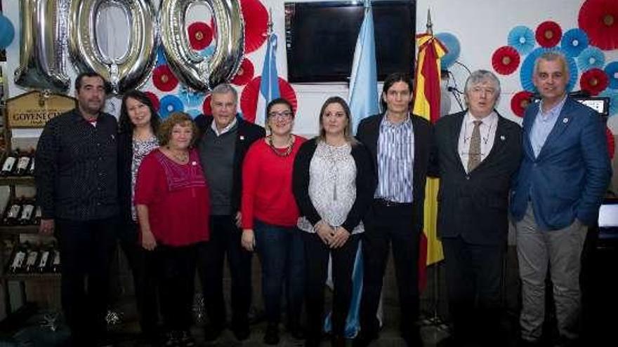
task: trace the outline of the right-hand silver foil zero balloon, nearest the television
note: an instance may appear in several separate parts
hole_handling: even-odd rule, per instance
[[[209,6],[217,27],[216,46],[210,57],[193,51],[187,38],[185,16],[196,1]],[[159,26],[169,67],[186,86],[210,90],[236,74],[244,54],[244,21],[239,0],[162,0]]]

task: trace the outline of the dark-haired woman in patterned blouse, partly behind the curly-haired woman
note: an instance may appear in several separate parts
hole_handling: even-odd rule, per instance
[[[118,196],[120,225],[118,239],[133,273],[136,304],[143,338],[155,341],[159,310],[155,277],[147,267],[147,252],[139,245],[133,196],[142,159],[159,147],[156,133],[159,115],[147,95],[131,90],[122,97],[118,133]]]

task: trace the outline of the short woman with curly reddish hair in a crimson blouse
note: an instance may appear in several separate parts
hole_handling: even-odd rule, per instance
[[[195,346],[189,329],[197,244],[209,239],[210,215],[196,138],[188,114],[171,114],[159,127],[161,147],[145,156],[136,183],[141,245],[155,258],[164,346]]]

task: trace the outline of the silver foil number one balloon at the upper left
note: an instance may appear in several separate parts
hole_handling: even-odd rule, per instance
[[[20,65],[15,84],[63,92],[66,74],[65,13],[69,0],[20,0]]]

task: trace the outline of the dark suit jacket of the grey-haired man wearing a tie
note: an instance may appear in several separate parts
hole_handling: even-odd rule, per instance
[[[466,173],[457,148],[465,115],[462,111],[444,116],[434,127],[431,171],[440,177],[438,236],[498,245],[508,233],[508,191],[520,165],[521,128],[498,115],[491,151]]]

